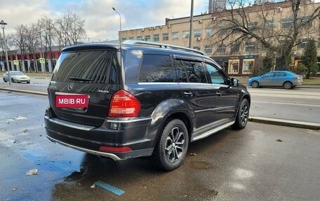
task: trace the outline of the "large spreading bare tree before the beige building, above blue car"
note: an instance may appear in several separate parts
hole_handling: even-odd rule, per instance
[[[298,39],[307,36],[314,19],[320,16],[319,7],[308,11],[312,6],[302,4],[302,0],[253,6],[246,6],[241,0],[229,1],[229,5],[228,11],[215,14],[210,26],[217,31],[206,43],[231,49],[258,45],[261,50],[277,55],[284,69],[291,65],[292,50],[298,45]],[[281,6],[290,12],[279,17]],[[276,20],[281,23],[276,24]]]

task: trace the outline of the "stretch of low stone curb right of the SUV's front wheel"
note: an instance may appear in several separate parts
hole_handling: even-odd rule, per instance
[[[249,120],[256,123],[267,123],[272,125],[284,125],[290,127],[307,128],[311,130],[320,130],[320,123],[309,123],[298,120],[284,120],[279,118],[265,118],[258,116],[249,116]]]

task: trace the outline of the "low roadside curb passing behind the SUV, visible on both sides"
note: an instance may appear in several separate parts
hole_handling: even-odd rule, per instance
[[[0,90],[6,90],[11,92],[22,92],[22,93],[42,95],[42,96],[48,95],[46,92],[34,92],[34,91],[28,91],[28,90],[15,90],[15,89],[8,89],[8,88],[0,88]],[[309,122],[302,122],[297,120],[283,120],[279,118],[265,118],[265,117],[259,117],[259,116],[249,116],[248,120],[255,123],[266,123],[266,124],[272,124],[272,125],[284,125],[284,126],[300,127],[305,129],[311,129],[311,130],[320,130],[320,123],[309,123]]]

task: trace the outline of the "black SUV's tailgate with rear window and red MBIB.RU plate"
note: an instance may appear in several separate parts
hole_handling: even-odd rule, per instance
[[[112,94],[121,88],[119,53],[112,48],[62,52],[48,87],[55,118],[102,125]]]

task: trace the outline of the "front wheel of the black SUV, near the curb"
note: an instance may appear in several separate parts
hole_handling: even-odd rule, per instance
[[[236,130],[244,129],[248,123],[249,111],[250,105],[248,99],[243,99],[241,101],[239,111],[236,114],[236,121],[234,122],[234,125],[232,125],[232,128]]]

